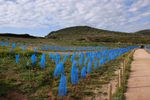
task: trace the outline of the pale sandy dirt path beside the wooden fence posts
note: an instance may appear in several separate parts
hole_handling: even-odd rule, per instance
[[[150,100],[150,54],[144,49],[134,53],[126,100]]]

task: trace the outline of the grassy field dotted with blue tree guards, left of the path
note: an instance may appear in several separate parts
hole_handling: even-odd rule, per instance
[[[1,41],[0,68],[5,77],[1,79],[4,85],[1,95],[10,90],[20,91],[31,99],[76,95],[79,86],[92,80],[92,75],[104,69],[105,64],[135,48],[137,46],[71,48],[48,45],[29,48]],[[56,52],[47,52],[49,50]]]

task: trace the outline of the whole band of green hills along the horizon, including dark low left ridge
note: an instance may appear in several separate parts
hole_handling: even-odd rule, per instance
[[[115,46],[150,44],[150,30],[135,33],[114,32],[88,26],[68,27],[53,31],[45,37],[34,37],[28,34],[0,33],[0,40],[21,42],[32,45],[59,46]]]

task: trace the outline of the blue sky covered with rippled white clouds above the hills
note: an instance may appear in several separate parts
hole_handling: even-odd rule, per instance
[[[150,29],[150,0],[0,0],[0,33],[45,36],[70,26]]]

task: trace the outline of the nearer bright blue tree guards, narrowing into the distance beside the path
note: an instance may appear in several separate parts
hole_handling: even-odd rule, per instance
[[[71,83],[73,85],[77,85],[79,79],[86,78],[87,74],[92,72],[92,69],[97,69],[106,62],[116,59],[122,54],[129,52],[130,50],[137,48],[137,46],[129,46],[126,48],[117,48],[112,50],[104,50],[100,52],[75,52],[73,54],[49,54],[49,59],[55,62],[55,70],[53,73],[53,77],[60,78],[60,84],[58,88],[59,96],[67,95],[67,78],[65,76],[65,67],[64,64],[67,60],[70,60],[72,63],[71,66]],[[19,55],[16,55],[16,63],[19,62]],[[32,65],[37,63],[36,54],[31,56]],[[40,59],[40,67],[45,69],[46,63],[46,54],[41,55]],[[81,69],[81,70],[79,70]]]

